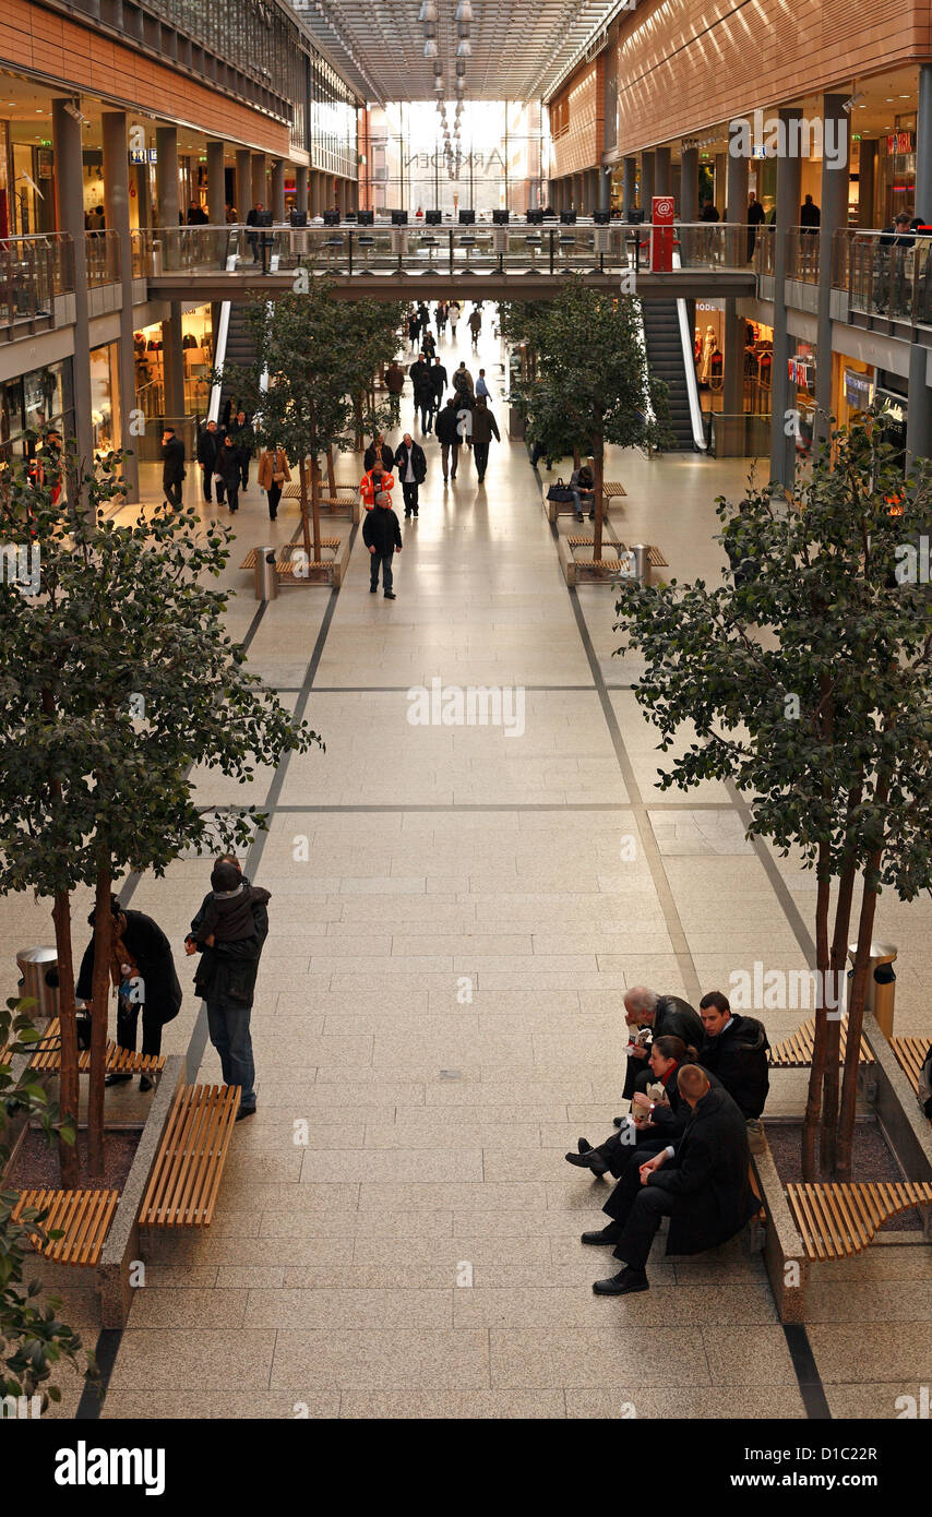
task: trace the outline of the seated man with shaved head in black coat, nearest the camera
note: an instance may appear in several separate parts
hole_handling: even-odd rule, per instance
[[[583,1242],[615,1244],[624,1265],[592,1286],[597,1296],[647,1291],[647,1261],[662,1217],[669,1217],[666,1253],[703,1253],[733,1238],[754,1215],[744,1117],[727,1091],[713,1089],[695,1063],[679,1071],[692,1107],[683,1136],[645,1164],[628,1165],[603,1208],[613,1218]]]

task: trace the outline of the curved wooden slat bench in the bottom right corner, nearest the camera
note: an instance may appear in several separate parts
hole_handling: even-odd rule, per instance
[[[932,1204],[932,1182],[788,1185],[786,1198],[808,1259],[850,1259],[897,1212]]]

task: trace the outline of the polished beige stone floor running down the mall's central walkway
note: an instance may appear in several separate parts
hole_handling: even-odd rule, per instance
[[[507,434],[489,316],[478,356],[464,328],[442,352],[451,369],[486,366]],[[410,411],[405,397],[405,423]],[[600,1224],[607,1189],[563,1153],[583,1133],[600,1141],[619,1110],[624,988],[695,1001],[754,960],[800,968],[785,903],[809,925],[815,881],[744,840],[726,786],[656,789],[636,667],[613,657],[613,598],[568,592],[524,444],[492,444],[484,488],[471,464],[445,488],[433,438],[427,452],[395,602],[367,593],[357,539],[338,595],[287,590],[257,625],[237,564],[291,537],[298,516],[290,504],[269,539],[255,484],[243,498],[229,630],[252,633],[250,667],[326,751],[249,787],[272,809],[246,860],[272,892],[258,1115],[234,1135],[213,1227],[149,1264],[103,1415],[618,1417],[633,1403],[639,1417],[803,1417],[759,1259],[666,1261],[660,1241],[648,1294],[592,1296],[610,1261],[578,1233]],[[715,578],[713,499],[738,496],[747,469],[619,454],[613,526],[657,543],[671,575]],[[338,472],[358,478],[358,460]],[[187,490],[194,501],[194,470]],[[522,695],[522,719],[416,725],[411,692],[434,680]],[[197,789],[205,802],[243,793],[213,772]],[[178,945],[170,1053],[202,1047],[181,944],[208,875],[206,860],[178,862],[132,897]],[[903,1032],[927,1025],[930,919],[927,904],[883,897]],[[49,936],[44,903],[0,907],[8,965]],[[803,1015],[768,1013],[771,1036]],[[200,1076],[219,1073],[208,1044]],[[800,1094],[798,1076],[776,1076],[768,1110]],[[112,1092],[112,1109],[138,1100]],[[812,1292],[835,1415],[893,1417],[927,1377],[930,1279],[929,1250],[885,1247]],[[90,1302],[73,1291],[68,1308],[93,1341]],[[62,1412],[74,1406],[68,1380]]]

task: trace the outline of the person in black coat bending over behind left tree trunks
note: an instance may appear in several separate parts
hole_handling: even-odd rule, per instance
[[[140,1022],[140,1006],[143,1007],[143,1053],[159,1054],[162,1051],[162,1027],[178,1016],[181,1010],[181,985],[175,972],[172,944],[164,931],[144,912],[132,912],[120,906],[115,895],[111,897],[112,942],[120,941],[135,965],[135,980],[141,985],[132,986],[132,1000],[120,1003],[117,1010],[117,1044],[120,1048],[131,1048],[135,1053],[137,1029]],[[94,925],[94,912],[88,916]],[[80,960],[80,972],[74,995],[87,1006],[91,1004],[94,977],[94,947],[97,938],[91,936]],[[123,1085],[132,1080],[131,1074],[108,1074],[108,1085]],[[140,1089],[152,1088],[147,1076],[140,1077]]]

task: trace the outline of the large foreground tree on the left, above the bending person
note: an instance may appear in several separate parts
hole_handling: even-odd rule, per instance
[[[261,681],[225,631],[228,595],[211,586],[229,531],[158,505],[121,522],[120,457],[55,490],[24,466],[0,481],[0,540],[27,531],[36,593],[0,586],[0,890],[53,901],[61,972],[61,1106],[77,1112],[71,894],[94,890],[88,1156],[103,1168],[103,1080],[111,890],[128,871],[156,875],[188,848],[235,846],[264,821],[255,807],[203,809],[190,771],[247,784],[258,765],[319,742]],[[65,1183],[74,1167],[65,1154]]]

